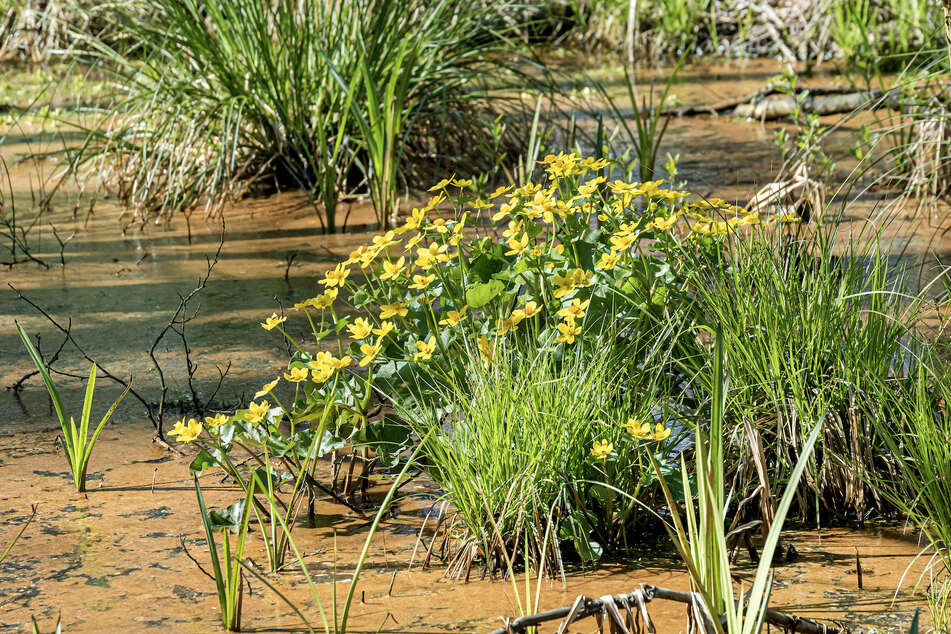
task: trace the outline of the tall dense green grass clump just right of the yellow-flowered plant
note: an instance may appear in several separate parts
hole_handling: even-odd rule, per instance
[[[718,243],[714,254],[672,253],[696,303],[697,321],[730,345],[730,376],[742,420],[758,421],[770,455],[791,472],[809,421],[826,412],[823,442],[803,480],[800,511],[866,517],[890,505],[859,472],[893,468],[879,451],[876,413],[862,394],[914,371],[922,294],[903,287],[903,271],[877,234],[837,237],[834,226],[754,229]],[[703,376],[704,361],[688,371]],[[708,388],[707,388],[708,389]],[[709,392],[707,392],[709,393]],[[777,472],[774,477],[781,478]]]

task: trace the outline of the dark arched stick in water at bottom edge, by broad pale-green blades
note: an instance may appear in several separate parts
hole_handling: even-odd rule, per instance
[[[608,599],[611,599],[615,604],[621,603],[622,605],[625,601],[632,603],[636,602],[638,599],[642,600],[644,603],[650,603],[654,599],[662,599],[666,601],[686,603],[688,605],[695,605],[697,601],[701,600],[700,595],[695,592],[682,592],[680,590],[660,588],[658,586],[642,583],[640,589],[638,590],[613,597],[606,596],[601,597],[600,599],[589,599],[583,595],[579,596],[571,606],[519,617],[508,622],[505,627],[501,627],[492,631],[491,634],[524,632],[529,627],[533,627],[547,621],[562,620],[568,616],[572,616],[572,620],[576,620],[589,616],[600,615],[607,609],[605,603]],[[837,627],[825,625],[813,621],[812,619],[800,618],[798,616],[786,614],[784,612],[779,612],[772,609],[766,610],[764,622],[783,628],[789,632],[796,632],[797,634],[839,634],[840,632],[839,628]]]

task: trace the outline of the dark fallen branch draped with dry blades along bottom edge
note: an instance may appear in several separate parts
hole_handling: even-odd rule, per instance
[[[669,588],[660,588],[646,583],[642,583],[640,589],[626,594],[615,596],[606,595],[599,599],[589,599],[584,595],[579,596],[571,606],[539,612],[538,614],[529,614],[519,617],[513,621],[508,621],[505,627],[493,630],[491,634],[513,634],[524,632],[527,628],[540,625],[548,621],[563,620],[564,623],[559,628],[559,632],[566,629],[567,625],[577,619],[590,616],[608,616],[612,622],[620,625],[625,630],[627,624],[622,620],[619,608],[622,608],[628,615],[630,621],[634,620],[634,612],[631,607],[639,608],[637,613],[644,620],[648,632],[654,632],[654,626],[644,608],[645,604],[654,599],[663,599],[667,601],[677,601],[687,605],[702,605],[700,595],[695,592],[682,592],[680,590],[671,590]],[[765,618],[766,623],[782,628],[787,632],[796,632],[797,634],[840,634],[841,630],[837,627],[825,625],[813,621],[812,619],[800,618],[785,612],[767,609]],[[620,621],[620,622],[618,622]],[[630,622],[628,621],[628,622]],[[612,630],[614,631],[614,630]],[[621,630],[624,631],[624,630]],[[712,629],[710,630],[712,631]]]

